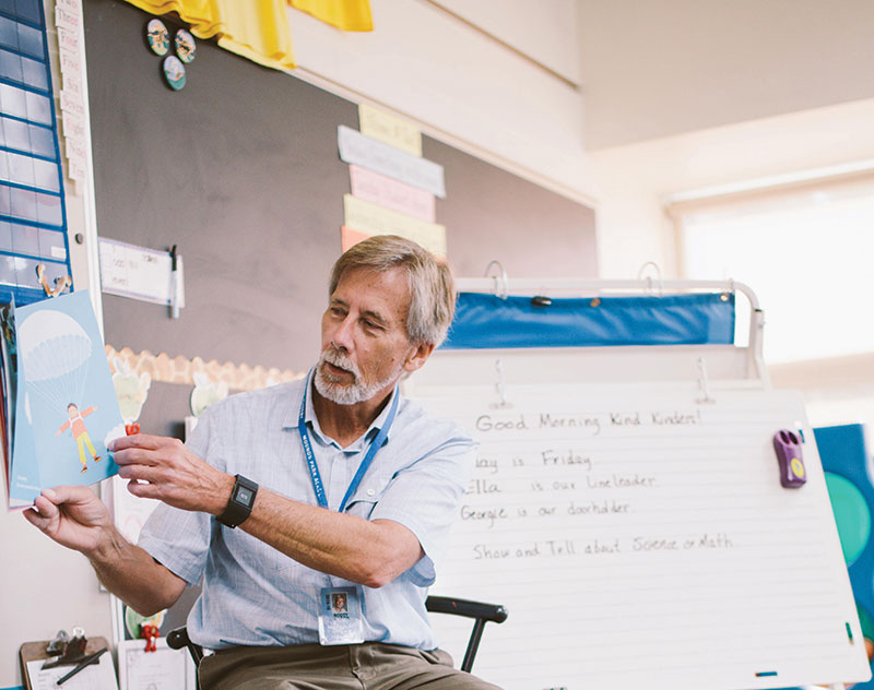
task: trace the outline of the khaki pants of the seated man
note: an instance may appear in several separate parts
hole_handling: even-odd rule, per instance
[[[234,647],[205,657],[199,675],[201,690],[500,690],[440,650],[379,642]]]

